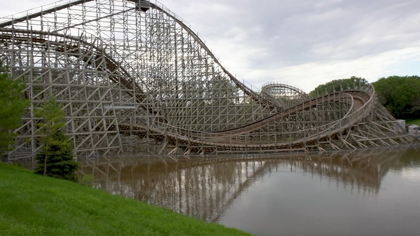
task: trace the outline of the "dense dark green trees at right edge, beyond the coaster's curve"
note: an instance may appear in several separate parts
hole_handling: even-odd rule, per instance
[[[397,119],[420,117],[420,77],[389,76],[373,83],[379,101]]]

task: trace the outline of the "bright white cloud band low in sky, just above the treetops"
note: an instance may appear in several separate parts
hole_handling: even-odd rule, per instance
[[[412,68],[401,70],[398,65],[407,61],[415,61]],[[395,66],[391,68],[391,66]],[[374,82],[381,77],[391,75],[413,75],[413,71],[419,74],[420,47],[411,47],[387,51],[375,55],[368,55],[352,60],[329,61],[325,63],[308,62],[299,65],[279,67],[271,70],[256,70],[245,72],[245,79],[257,87],[272,81],[286,82],[302,88],[306,92],[312,91],[317,85],[335,79],[358,76]],[[407,71],[408,73],[405,73]],[[251,79],[250,79],[251,78]],[[262,81],[264,80],[264,81]],[[265,81],[266,80],[266,81]]]

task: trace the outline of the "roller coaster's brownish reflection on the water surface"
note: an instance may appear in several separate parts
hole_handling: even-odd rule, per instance
[[[139,199],[207,221],[217,222],[246,189],[272,172],[303,170],[341,183],[366,195],[376,195],[386,173],[419,159],[402,157],[397,148],[329,154],[85,159],[81,171],[93,174],[95,185],[113,194]],[[414,150],[416,151],[416,150]]]

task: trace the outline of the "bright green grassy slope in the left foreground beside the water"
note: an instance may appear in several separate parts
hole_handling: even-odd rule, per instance
[[[249,235],[0,163],[0,235]]]

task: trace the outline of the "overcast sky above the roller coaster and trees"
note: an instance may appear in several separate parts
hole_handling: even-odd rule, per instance
[[[0,0],[0,16],[50,0]],[[160,0],[257,88],[420,75],[420,0]]]

